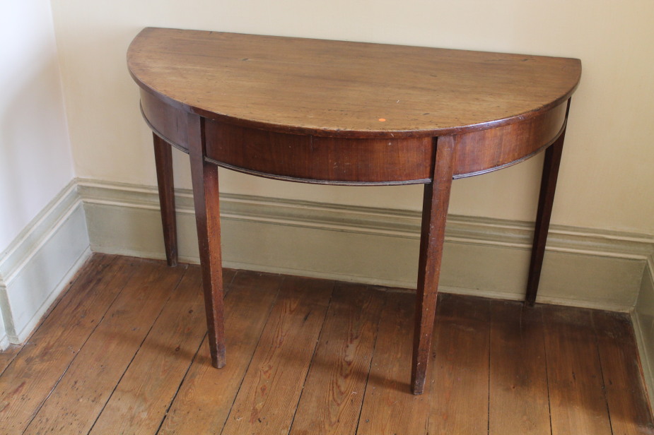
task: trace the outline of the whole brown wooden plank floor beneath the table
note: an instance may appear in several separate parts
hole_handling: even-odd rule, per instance
[[[654,434],[624,314],[441,294],[414,396],[412,294],[225,278],[218,370],[197,266],[93,256],[0,353],[0,434]]]

